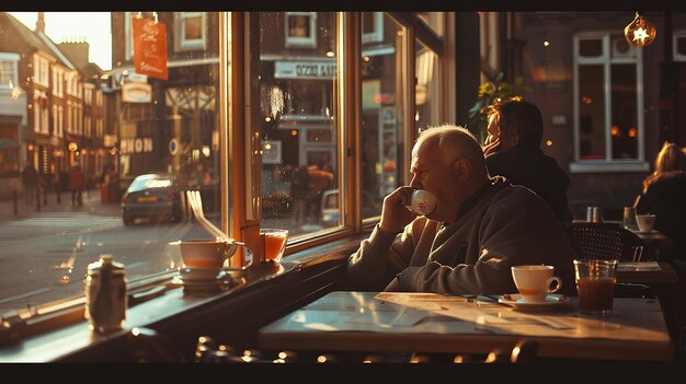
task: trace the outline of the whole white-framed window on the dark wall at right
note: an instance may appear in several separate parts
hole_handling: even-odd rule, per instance
[[[574,58],[571,170],[643,170],[642,50],[622,35],[579,34]]]

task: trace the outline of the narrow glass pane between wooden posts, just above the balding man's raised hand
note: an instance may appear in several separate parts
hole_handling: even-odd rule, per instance
[[[403,183],[402,27],[387,15],[382,24],[382,42],[362,46],[363,219],[379,216],[384,197]]]

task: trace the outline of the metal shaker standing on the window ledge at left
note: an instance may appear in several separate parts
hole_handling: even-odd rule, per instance
[[[91,329],[106,334],[122,329],[126,318],[126,269],[112,255],[89,264],[85,278],[85,318]]]

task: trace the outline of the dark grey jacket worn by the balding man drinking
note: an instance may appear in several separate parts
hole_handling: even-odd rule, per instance
[[[377,228],[347,265],[346,289],[381,291],[397,276],[403,291],[516,293],[510,267],[554,266],[562,293],[576,294],[574,251],[550,207],[502,177],[475,194],[453,223],[418,217],[398,235]]]

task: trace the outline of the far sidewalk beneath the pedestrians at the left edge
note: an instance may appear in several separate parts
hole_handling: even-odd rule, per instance
[[[100,190],[96,188],[83,190],[81,194],[83,206],[71,206],[71,191],[62,191],[59,194],[60,202],[57,203],[57,193],[48,191],[47,205],[45,199],[41,198],[41,211],[37,211],[37,203],[34,197],[33,202],[27,205],[25,196],[18,194],[16,213],[14,213],[14,199],[0,199],[0,221],[15,220],[28,218],[44,212],[88,212],[98,216],[121,216],[122,208],[119,203],[102,203],[100,202]]]

